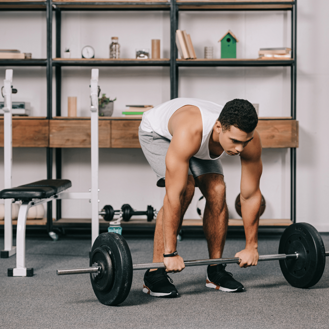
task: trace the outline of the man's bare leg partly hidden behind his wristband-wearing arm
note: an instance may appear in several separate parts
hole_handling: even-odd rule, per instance
[[[177,235],[181,229],[183,217],[185,215],[185,212],[189,206],[189,204],[192,201],[193,195],[194,195],[194,189],[195,189],[195,183],[194,178],[192,175],[188,175],[187,179],[187,186],[186,190],[183,194],[183,199],[181,202],[181,217],[180,217],[180,223],[177,231]],[[160,209],[158,216],[157,216],[157,222],[155,226],[155,232],[154,232],[154,245],[153,245],[153,263],[161,263],[164,259],[164,237],[162,232],[162,219],[163,219],[163,207]],[[151,269],[150,271],[154,271],[155,269]]]

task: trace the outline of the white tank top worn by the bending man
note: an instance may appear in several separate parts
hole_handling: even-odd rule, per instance
[[[194,157],[204,160],[216,160],[230,156],[225,151],[216,158],[209,154],[209,139],[223,106],[197,98],[175,98],[146,111],[142,116],[140,129],[149,133],[155,132],[171,140],[168,122],[172,114],[185,105],[197,106],[202,117],[202,141]]]

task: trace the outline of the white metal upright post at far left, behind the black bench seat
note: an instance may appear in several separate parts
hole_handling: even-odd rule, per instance
[[[4,80],[4,171],[5,189],[12,187],[13,142],[12,142],[12,82],[13,70],[7,69]],[[10,257],[16,253],[13,246],[12,199],[5,199],[5,249],[2,257]]]

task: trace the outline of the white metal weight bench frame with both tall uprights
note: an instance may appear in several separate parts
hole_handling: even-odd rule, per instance
[[[91,202],[91,245],[99,235],[98,219],[98,68],[91,70],[90,98],[91,98],[91,189],[90,192],[60,192],[47,199],[33,199],[23,201],[19,208],[16,230],[16,247],[13,244],[12,199],[5,199],[5,250],[12,256],[16,253],[16,267],[13,276],[26,276],[25,267],[25,229],[27,212],[30,207],[44,202],[58,199],[90,199]],[[5,189],[12,186],[12,100],[11,83],[13,70],[6,70],[5,107],[4,107],[4,161],[5,161]],[[10,257],[9,256],[9,257]]]

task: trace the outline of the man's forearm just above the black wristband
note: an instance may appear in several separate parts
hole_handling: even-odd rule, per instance
[[[164,197],[164,208],[162,217],[162,227],[164,236],[164,253],[171,254],[176,251],[177,231],[181,214],[181,203],[177,201],[169,202],[167,195]]]

